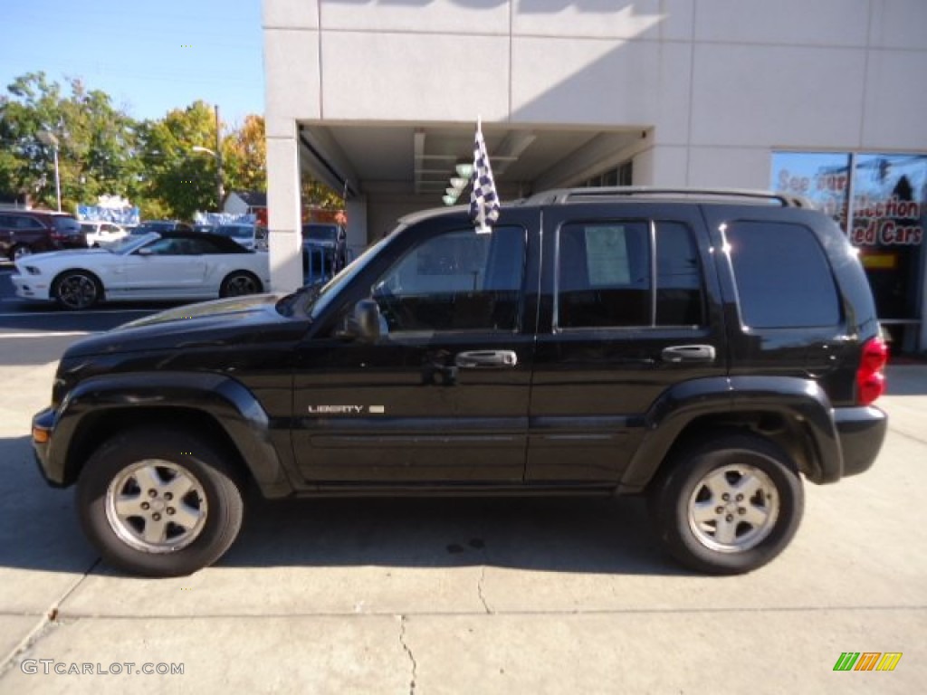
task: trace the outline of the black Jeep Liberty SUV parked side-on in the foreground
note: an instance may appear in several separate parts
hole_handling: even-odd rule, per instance
[[[787,197],[581,189],[403,219],[324,286],[169,310],[62,358],[34,447],[110,563],[183,575],[244,490],[648,496],[680,561],[778,554],[802,477],[875,460],[857,254]]]

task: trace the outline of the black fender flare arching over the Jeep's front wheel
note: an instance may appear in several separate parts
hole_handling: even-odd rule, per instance
[[[47,467],[63,485],[70,485],[83,461],[66,460],[79,444],[85,425],[99,418],[136,411],[163,410],[161,422],[184,424],[184,412],[210,418],[231,440],[266,497],[292,492],[284,463],[271,441],[271,422],[248,388],[222,374],[189,372],[114,373],[76,385],[62,401],[54,422],[55,436]],[[174,412],[171,412],[174,411]],[[56,446],[57,445],[57,446]]]

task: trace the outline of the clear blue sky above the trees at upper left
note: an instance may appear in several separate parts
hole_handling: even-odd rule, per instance
[[[238,124],[264,111],[261,0],[4,0],[0,94],[26,72],[79,77],[133,118],[197,99]]]

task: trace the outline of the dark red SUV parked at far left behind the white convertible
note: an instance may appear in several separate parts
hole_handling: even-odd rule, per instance
[[[23,256],[63,248],[86,248],[87,234],[67,213],[0,209],[0,256]]]

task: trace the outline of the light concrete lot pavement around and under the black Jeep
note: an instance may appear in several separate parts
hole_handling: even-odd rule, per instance
[[[28,435],[70,341],[157,308],[29,305],[10,296],[9,272],[0,692],[137,681],[151,692],[889,693],[927,682],[925,366],[890,369],[876,466],[806,486],[792,546],[751,575],[679,569],[637,499],[376,499],[256,503],[216,566],[146,580],[98,561]],[[903,656],[893,672],[834,672],[844,651]]]

